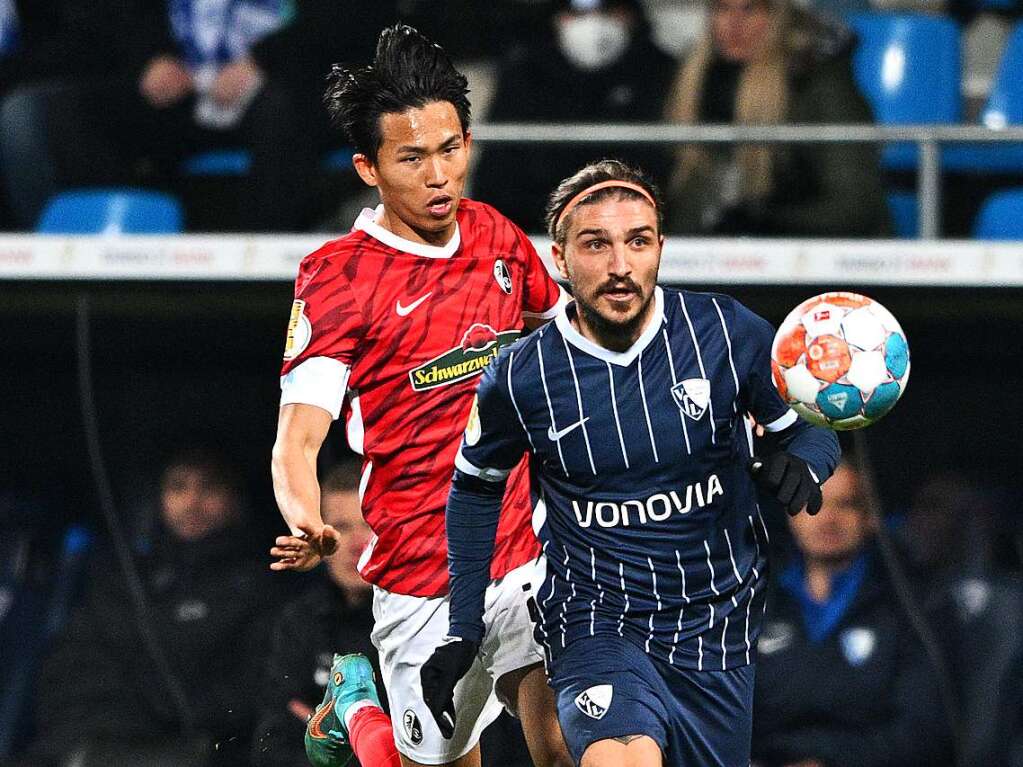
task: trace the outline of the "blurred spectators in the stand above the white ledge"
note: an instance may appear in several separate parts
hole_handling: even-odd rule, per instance
[[[980,5],[880,7],[971,20]],[[1017,10],[1015,0],[994,5],[998,19]],[[376,33],[398,18],[462,63],[477,122],[870,123],[853,77],[856,37],[841,20],[870,7],[866,0],[814,7],[794,0],[0,0],[0,226],[32,230],[61,190],[142,186],[182,197],[192,230],[347,229],[366,192],[321,105],[323,80],[332,62],[370,58]],[[231,170],[195,162],[218,151],[235,157]],[[545,195],[594,151],[479,146],[470,193],[527,230],[542,230]],[[886,179],[870,144],[609,143],[596,151],[657,178],[669,233],[892,231]]]

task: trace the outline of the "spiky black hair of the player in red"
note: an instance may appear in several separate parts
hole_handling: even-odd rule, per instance
[[[372,63],[335,64],[323,95],[330,121],[355,150],[376,161],[383,143],[381,117],[422,108],[433,101],[454,106],[462,134],[469,131],[469,81],[447,53],[408,25],[384,30]]]

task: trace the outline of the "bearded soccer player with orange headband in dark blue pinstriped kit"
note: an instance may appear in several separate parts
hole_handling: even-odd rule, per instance
[[[529,451],[537,632],[576,762],[747,767],[768,545],[757,486],[816,512],[838,441],[775,392],[765,320],[657,285],[661,204],[642,174],[587,166],[547,220],[575,301],[477,391],[447,505],[449,636],[422,667],[424,700],[450,731],[503,483]],[[781,446],[755,461],[750,416]]]

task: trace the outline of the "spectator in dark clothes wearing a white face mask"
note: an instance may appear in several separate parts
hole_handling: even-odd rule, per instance
[[[547,33],[513,47],[500,64],[488,120],[494,123],[658,122],[675,61],[654,43],[639,0],[562,0]],[[662,149],[488,146],[473,193],[530,231],[543,231],[547,194],[559,179],[594,159],[614,155],[664,168]],[[658,179],[663,180],[663,179]]]

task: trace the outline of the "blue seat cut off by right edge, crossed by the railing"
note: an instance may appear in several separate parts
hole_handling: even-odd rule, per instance
[[[980,122],[995,130],[1023,126],[1023,21],[1016,25],[1006,41]],[[943,160],[945,168],[954,171],[1020,173],[1023,145],[952,146]]]

